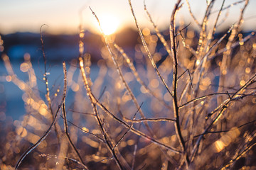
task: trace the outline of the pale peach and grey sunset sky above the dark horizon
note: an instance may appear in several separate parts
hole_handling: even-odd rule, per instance
[[[137,16],[139,26],[152,28],[144,12],[143,1],[132,0],[134,13]],[[220,8],[222,1],[216,0],[215,10]],[[237,1],[240,0],[226,0],[224,6]],[[160,29],[169,27],[171,11],[175,2],[175,0],[146,0],[149,13],[151,13],[154,22]],[[186,1],[183,0],[182,2],[183,7],[176,17],[177,23],[178,21],[185,21],[186,23],[191,23],[190,27],[196,26],[188,13]],[[198,18],[198,21],[202,21],[207,0],[189,0],[189,2],[191,10]],[[225,16],[226,11],[223,11],[220,21],[223,18],[227,18],[227,20],[225,25],[219,27],[218,30],[227,28],[238,20],[240,8],[243,4],[238,4],[226,10],[228,11],[228,17]],[[50,33],[78,33],[78,26],[81,20],[85,30],[98,32],[97,21],[92,15],[89,6],[100,18],[100,22],[107,23],[106,27],[109,28],[106,29],[120,30],[126,26],[134,27],[128,0],[0,0],[0,33],[38,33],[43,24],[48,25],[47,31]],[[245,22],[242,27],[245,30],[255,30],[256,28],[255,7],[256,0],[250,0],[250,4],[245,11]],[[214,15],[213,18],[215,18]]]

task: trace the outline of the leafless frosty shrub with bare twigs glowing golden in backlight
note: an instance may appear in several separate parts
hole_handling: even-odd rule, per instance
[[[176,14],[185,8],[178,0],[171,15],[170,38],[166,40],[145,2],[154,31],[141,30],[129,0],[141,42],[134,56],[129,57],[102,32],[103,60],[97,62],[99,73],[94,81],[90,78],[90,55],[83,48],[82,26],[80,56],[71,62],[68,71],[63,62],[63,86],[53,89],[48,82],[41,37],[45,99],[35,89],[29,57],[24,63],[31,76],[25,82],[16,77],[7,55],[2,55],[11,81],[24,92],[27,114],[16,122],[16,133],[13,129],[6,132],[1,168],[14,166],[17,160],[16,168],[35,169],[255,166],[255,33],[240,33],[249,1],[227,7],[223,1],[217,12],[213,11],[215,1],[206,2],[206,15],[200,23],[186,1],[193,22],[200,28],[196,33],[189,25],[176,27]],[[217,37],[220,14],[241,3],[238,21]],[[92,14],[100,24],[97,14]],[[77,81],[76,69],[80,69]],[[72,102],[66,99],[70,89],[76,91]],[[72,103],[68,110],[67,102]],[[29,147],[28,142],[33,145]]]

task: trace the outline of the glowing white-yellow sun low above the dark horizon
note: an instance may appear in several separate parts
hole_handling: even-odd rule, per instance
[[[105,35],[113,34],[119,27],[119,20],[115,16],[106,14],[104,16],[100,16],[99,19],[100,19],[100,26],[102,28],[103,33],[105,33]]]

